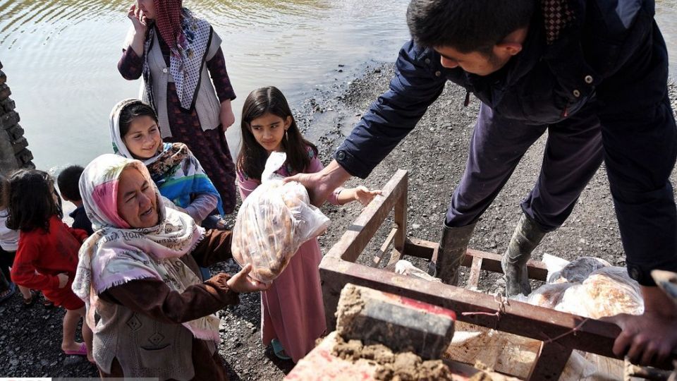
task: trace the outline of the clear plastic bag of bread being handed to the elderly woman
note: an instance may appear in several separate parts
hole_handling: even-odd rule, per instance
[[[261,185],[240,205],[233,228],[233,258],[240,266],[251,263],[250,277],[264,283],[281,274],[299,246],[329,226],[329,218],[310,205],[303,185],[283,183],[274,173],[285,160],[283,152],[270,155]]]

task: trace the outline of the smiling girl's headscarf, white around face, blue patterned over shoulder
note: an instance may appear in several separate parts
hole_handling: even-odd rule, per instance
[[[113,152],[133,159],[120,134],[120,114],[126,107],[141,104],[139,99],[124,99],[111,110]],[[161,152],[143,162],[160,194],[179,207],[188,207],[194,195],[209,193],[216,197],[216,209],[224,214],[221,194],[202,169],[195,155],[183,143],[163,143]]]

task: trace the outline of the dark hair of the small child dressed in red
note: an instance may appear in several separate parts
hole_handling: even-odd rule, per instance
[[[61,198],[55,202],[52,194],[54,179],[47,172],[36,169],[19,169],[9,176],[9,215],[7,227],[12,230],[49,231],[49,218],[63,217]]]

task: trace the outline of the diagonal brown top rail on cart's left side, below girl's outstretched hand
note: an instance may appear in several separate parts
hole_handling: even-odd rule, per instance
[[[402,195],[406,192],[407,171],[398,170],[382,188],[382,195],[370,202],[362,213],[348,226],[346,233],[332,246],[325,257],[342,258],[355,262],[365,249],[367,243],[378,231],[381,224],[396,202],[402,202]]]

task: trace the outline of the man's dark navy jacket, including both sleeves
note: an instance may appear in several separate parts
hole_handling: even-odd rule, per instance
[[[367,177],[415,127],[448,80],[464,87],[494,112],[535,125],[556,123],[583,107],[594,107],[604,130],[606,152],[628,151],[628,135],[623,131],[628,131],[627,123],[636,121],[662,123],[664,129],[652,138],[673,140],[674,120],[666,85],[668,57],[653,19],[654,1],[560,2],[571,13],[539,12],[530,24],[523,51],[485,77],[461,68],[444,68],[433,49],[412,41],[404,44],[390,90],[370,106],[338,147],[336,161],[351,175]],[[549,21],[557,18],[566,20],[563,28],[552,28],[556,23]],[[651,146],[647,142],[646,147]],[[605,155],[607,169],[618,169],[614,176],[609,171],[609,181],[628,268],[643,284],[652,284],[648,271],[657,263],[677,270],[677,217],[667,179],[677,145],[661,150],[666,152],[651,164],[655,173],[649,175],[633,172],[635,162],[647,156],[643,152],[628,152],[626,157],[611,161]],[[647,189],[655,194],[647,195]],[[663,231],[658,233],[652,224],[628,222],[650,217],[640,216],[644,212],[638,212],[638,205],[645,205],[649,214],[654,208],[666,216],[654,222],[664,226]],[[649,237],[656,234],[664,238],[654,240],[654,246],[647,245],[646,241],[652,240]]]

